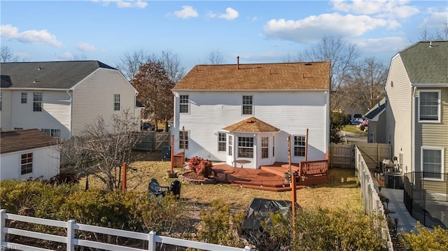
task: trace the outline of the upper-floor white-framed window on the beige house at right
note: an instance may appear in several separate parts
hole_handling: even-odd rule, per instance
[[[440,122],[440,90],[419,91],[419,121]]]

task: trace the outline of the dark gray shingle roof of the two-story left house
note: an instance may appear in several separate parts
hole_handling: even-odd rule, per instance
[[[70,89],[99,68],[116,70],[99,61],[1,63],[1,87]]]

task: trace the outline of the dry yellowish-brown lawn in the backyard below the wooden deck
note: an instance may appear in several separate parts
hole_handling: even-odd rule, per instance
[[[173,178],[167,178],[169,162],[162,162],[160,152],[144,154],[144,160],[133,162],[130,167],[137,171],[130,171],[127,177],[128,189],[148,191],[148,182],[156,178],[160,185],[170,185]],[[178,173],[186,171],[175,168]],[[80,181],[84,184],[85,180]],[[90,186],[99,185],[93,178],[89,178]],[[208,205],[214,199],[221,199],[232,205],[235,210],[244,210],[255,197],[262,199],[290,200],[291,192],[269,192],[257,189],[231,187],[230,185],[193,185],[183,183],[181,198],[192,203]],[[297,203],[303,208],[350,208],[360,210],[362,202],[357,178],[352,170],[346,168],[330,169],[330,182],[316,187],[306,187],[297,190]]]

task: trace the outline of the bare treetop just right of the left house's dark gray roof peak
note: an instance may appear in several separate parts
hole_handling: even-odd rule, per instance
[[[146,64],[149,59],[149,55],[144,50],[138,50],[132,54],[126,53],[125,57],[120,58],[120,63],[116,65],[116,68],[131,82],[139,73],[139,67]]]

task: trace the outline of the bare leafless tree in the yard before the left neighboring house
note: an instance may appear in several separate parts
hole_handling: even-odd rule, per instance
[[[138,155],[132,154],[141,140],[141,134],[134,131],[136,123],[130,110],[113,115],[111,124],[106,124],[99,116],[95,122],[85,126],[81,136],[62,141],[57,146],[62,169],[71,168],[78,174],[93,175],[109,191],[118,189],[122,182],[123,162],[138,159]]]

